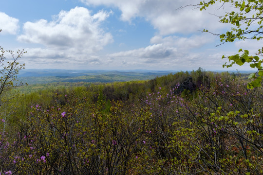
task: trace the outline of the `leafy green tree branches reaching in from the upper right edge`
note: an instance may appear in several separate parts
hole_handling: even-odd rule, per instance
[[[197,6],[202,11],[216,3],[222,3],[221,8],[224,8],[224,6],[234,7],[235,11],[226,12],[224,16],[218,16],[221,23],[232,24],[232,27],[223,34],[213,34],[206,29],[204,29],[204,32],[218,35],[222,44],[233,42],[237,39],[261,40],[263,38],[263,0],[203,0],[199,4],[191,6]],[[223,68],[229,68],[234,64],[242,66],[244,63],[250,63],[250,67],[257,69],[257,71],[250,74],[249,78],[252,81],[247,85],[247,88],[262,86],[263,47],[259,48],[258,53],[255,53],[255,55],[249,55],[249,51],[243,49],[240,49],[238,52],[241,54],[227,57],[230,64],[225,63]],[[226,57],[223,55],[223,58]]]

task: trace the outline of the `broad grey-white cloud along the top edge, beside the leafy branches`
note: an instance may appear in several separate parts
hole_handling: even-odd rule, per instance
[[[213,5],[209,10],[200,11],[194,7],[177,10],[187,4],[198,4],[199,0],[81,0],[87,5],[115,6],[122,12],[121,19],[131,21],[135,17],[143,17],[150,21],[160,35],[174,33],[189,34],[198,30],[210,29],[218,31],[225,24],[208,13],[222,14],[223,9]]]

